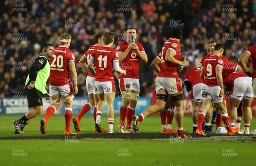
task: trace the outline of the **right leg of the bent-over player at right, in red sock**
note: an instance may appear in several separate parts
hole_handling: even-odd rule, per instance
[[[252,117],[252,110],[250,105],[253,103],[253,97],[242,100],[242,106],[244,109],[244,134],[250,134],[250,120]]]

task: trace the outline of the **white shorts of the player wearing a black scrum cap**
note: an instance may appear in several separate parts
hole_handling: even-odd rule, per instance
[[[168,94],[176,94],[183,91],[180,79],[172,77],[157,77],[155,89],[156,92],[160,89],[165,89]]]

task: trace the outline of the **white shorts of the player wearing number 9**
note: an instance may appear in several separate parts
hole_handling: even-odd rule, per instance
[[[221,87],[220,86],[208,86],[204,84],[204,88],[202,91],[202,98],[204,99],[212,99],[214,103],[220,103],[226,100],[225,95],[222,97],[218,97],[220,94]]]

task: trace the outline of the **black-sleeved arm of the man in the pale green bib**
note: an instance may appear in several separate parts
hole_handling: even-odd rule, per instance
[[[37,73],[40,69],[44,68],[46,63],[47,63],[47,61],[45,60],[44,57],[38,57],[38,58],[35,59],[35,62],[29,68],[30,83],[28,85],[28,89],[33,89],[34,88]]]

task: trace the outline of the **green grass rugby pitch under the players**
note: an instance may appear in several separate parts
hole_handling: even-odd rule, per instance
[[[24,129],[26,135],[15,135],[12,121],[21,116],[0,115],[1,166],[254,165],[256,139],[244,135],[193,135],[192,140],[175,139],[175,135],[160,134],[160,115],[147,117],[140,124],[140,133],[110,135],[93,132],[93,115],[86,114],[81,120],[81,132],[68,137],[64,136],[63,114],[53,115],[48,120],[47,135],[39,131],[39,121],[43,115],[36,117]],[[251,131],[256,129],[254,121],[255,116]],[[117,132],[118,122],[119,115],[116,115],[114,129]],[[172,126],[176,130],[175,118]],[[102,116],[102,127],[108,129],[106,115]],[[73,123],[71,129],[74,131]],[[191,133],[190,115],[184,116],[184,130],[188,129],[188,133]]]

